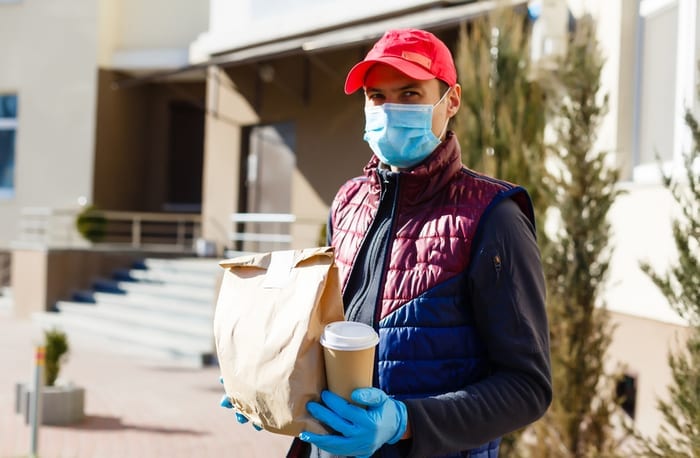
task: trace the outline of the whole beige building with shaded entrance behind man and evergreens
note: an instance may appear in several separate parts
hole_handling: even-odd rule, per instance
[[[542,0],[543,17],[562,2]],[[0,0],[0,248],[17,237],[23,208],[79,200],[201,214],[219,253],[231,213],[293,213],[293,246],[315,245],[336,189],[371,155],[362,96],[342,90],[347,70],[387,28],[423,27],[454,44],[461,23],[498,4]],[[695,0],[566,5],[598,20],[606,59],[597,146],[613,153],[626,190],[611,212],[610,363],[635,380],[637,422],[650,434],[685,323],[639,262],[674,259],[678,209],[656,156],[678,173],[691,148],[683,115],[698,112],[700,11]]]

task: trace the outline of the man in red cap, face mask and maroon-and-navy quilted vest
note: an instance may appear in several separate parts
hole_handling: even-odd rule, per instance
[[[374,157],[336,195],[329,240],[348,320],[380,335],[356,405],[324,391],[290,456],[495,457],[551,402],[544,280],[527,192],[461,163],[452,56],[390,30],[345,83]]]

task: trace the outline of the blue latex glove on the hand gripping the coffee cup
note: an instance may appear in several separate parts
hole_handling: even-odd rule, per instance
[[[306,410],[315,419],[340,435],[304,431],[299,439],[334,455],[356,457],[371,456],[385,443],[395,444],[401,439],[408,420],[403,402],[390,398],[377,388],[358,388],[350,397],[367,408],[350,404],[330,391],[321,393],[326,406],[316,402],[306,405]]]

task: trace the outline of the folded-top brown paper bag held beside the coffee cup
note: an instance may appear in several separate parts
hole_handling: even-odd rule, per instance
[[[275,251],[221,261],[226,269],[214,338],[226,394],[271,432],[326,433],[306,411],[326,387],[319,339],[343,320],[333,248]]]

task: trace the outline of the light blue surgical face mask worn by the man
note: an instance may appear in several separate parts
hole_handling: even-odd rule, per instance
[[[365,107],[365,141],[385,164],[407,169],[422,162],[440,144],[433,133],[435,105],[385,103]],[[447,128],[447,121],[445,127]]]

